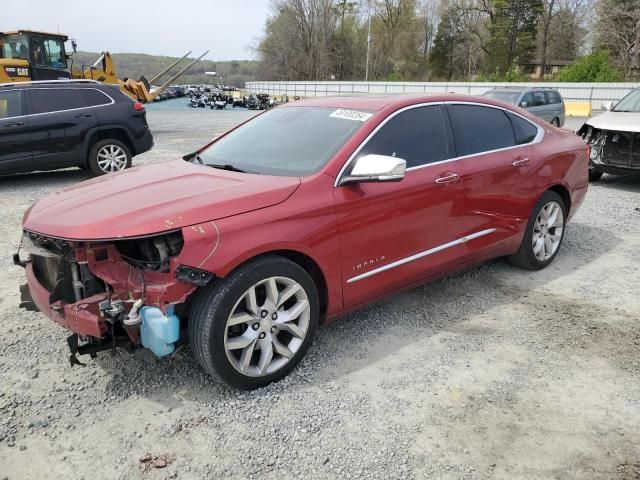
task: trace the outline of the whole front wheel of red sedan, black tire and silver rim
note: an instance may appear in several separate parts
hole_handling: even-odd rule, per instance
[[[282,379],[300,362],[318,318],[318,292],[309,274],[269,255],[197,293],[189,342],[209,374],[252,390]]]

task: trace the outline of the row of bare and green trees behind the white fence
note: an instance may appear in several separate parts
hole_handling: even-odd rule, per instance
[[[640,0],[271,4],[256,46],[264,80],[524,80],[527,65],[544,72],[592,52],[584,62],[596,73],[583,79],[590,67],[579,65],[564,76],[612,81],[640,69]]]

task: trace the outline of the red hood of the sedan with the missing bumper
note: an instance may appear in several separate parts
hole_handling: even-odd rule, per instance
[[[136,167],[47,195],[23,227],[75,240],[137,237],[276,205],[298,177],[230,172],[184,160]]]

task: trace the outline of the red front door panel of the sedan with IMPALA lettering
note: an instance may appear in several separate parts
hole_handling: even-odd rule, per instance
[[[461,245],[348,282],[369,270],[462,236],[464,196],[460,181],[436,184],[448,164],[406,172],[399,183],[355,184],[334,190],[341,240],[344,305],[349,308],[455,264]]]

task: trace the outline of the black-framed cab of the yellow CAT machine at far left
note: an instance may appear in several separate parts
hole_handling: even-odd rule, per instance
[[[0,33],[0,83],[70,78],[64,47],[67,40],[59,33]]]

